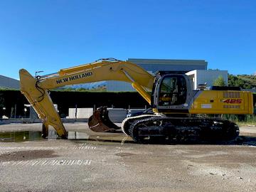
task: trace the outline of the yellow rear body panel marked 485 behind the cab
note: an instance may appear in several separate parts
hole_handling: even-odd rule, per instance
[[[190,114],[252,114],[252,92],[203,90],[193,97]]]

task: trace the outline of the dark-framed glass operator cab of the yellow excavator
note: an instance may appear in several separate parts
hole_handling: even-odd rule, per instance
[[[185,72],[159,71],[156,74],[152,101],[159,112],[188,113],[191,83]]]

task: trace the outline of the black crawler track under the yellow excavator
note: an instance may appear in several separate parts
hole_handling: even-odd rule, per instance
[[[171,142],[228,141],[239,135],[238,125],[225,119],[141,115],[125,119],[122,131],[135,142],[166,139]]]

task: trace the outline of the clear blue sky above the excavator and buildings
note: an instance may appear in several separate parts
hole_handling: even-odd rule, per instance
[[[0,75],[98,58],[204,59],[256,72],[256,1],[0,0]]]

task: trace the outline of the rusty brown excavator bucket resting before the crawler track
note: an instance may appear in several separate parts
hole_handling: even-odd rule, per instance
[[[121,129],[110,120],[107,107],[97,108],[88,119],[88,125],[93,132],[115,132],[115,130]]]

